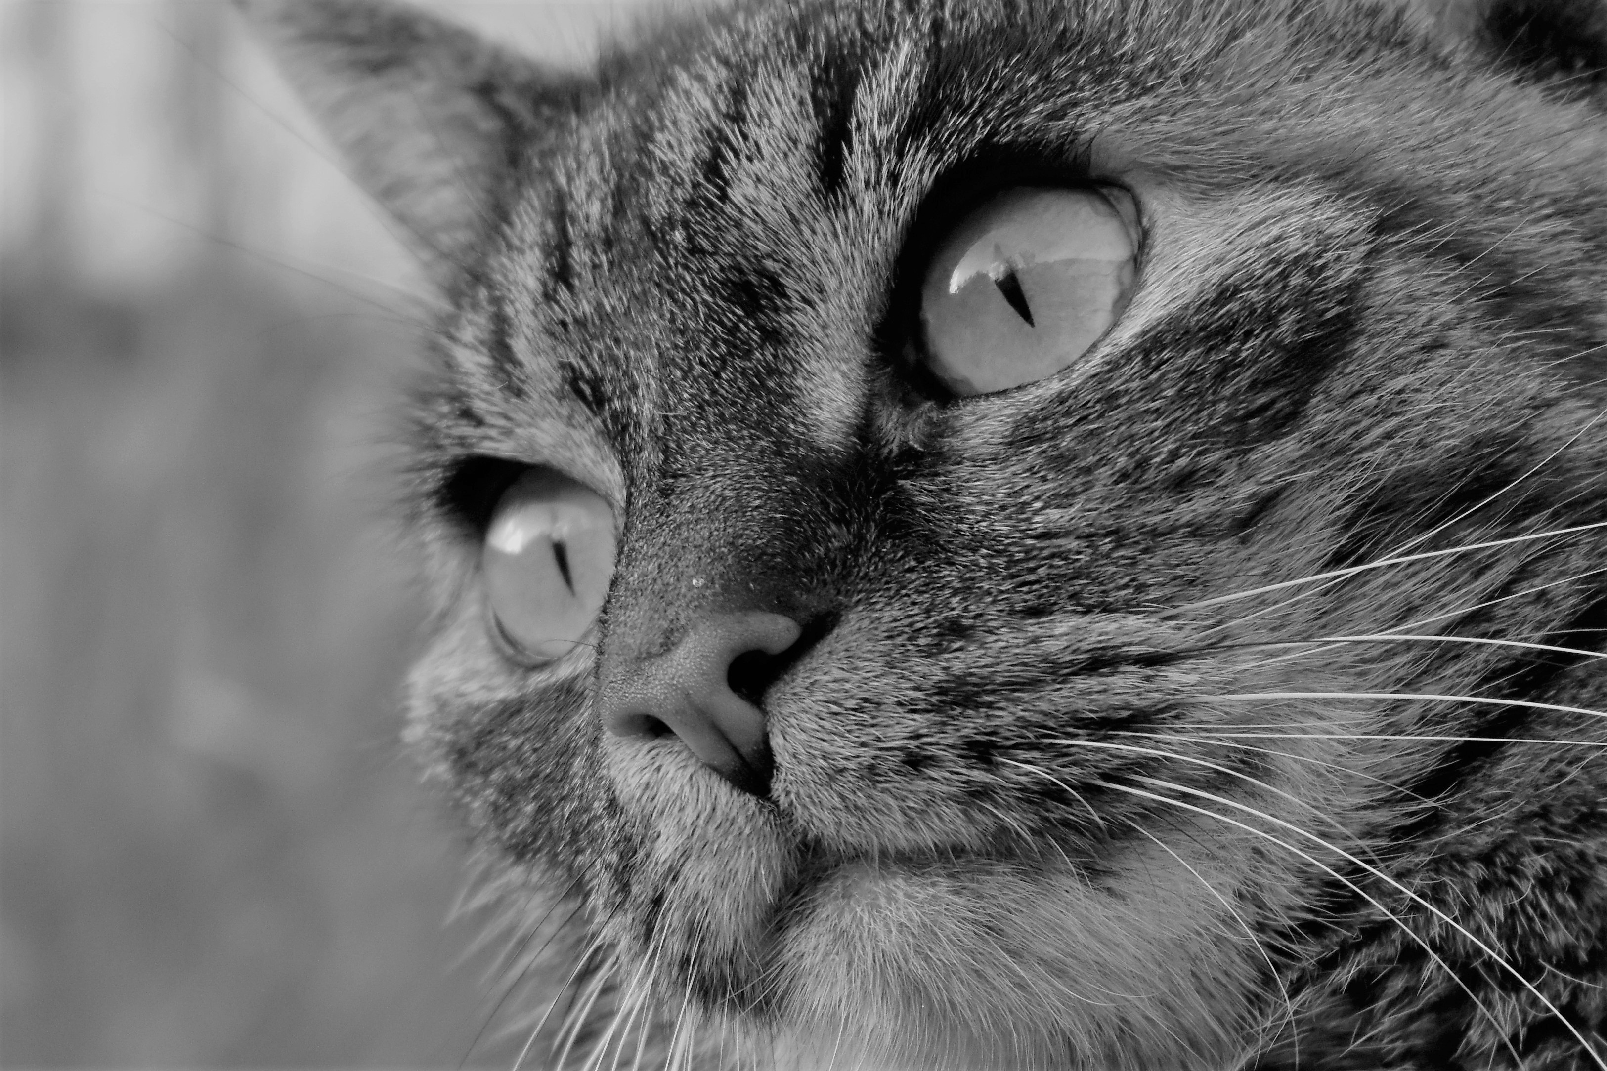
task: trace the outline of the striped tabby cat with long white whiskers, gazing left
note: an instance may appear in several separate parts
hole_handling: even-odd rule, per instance
[[[529,1066],[1607,1069],[1607,6],[244,6]]]

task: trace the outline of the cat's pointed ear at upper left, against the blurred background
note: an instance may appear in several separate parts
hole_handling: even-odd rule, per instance
[[[540,130],[577,100],[472,32],[379,0],[236,0],[354,178],[452,286]]]

